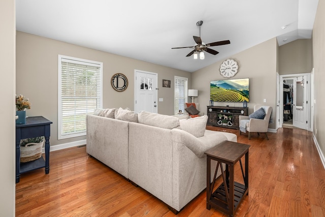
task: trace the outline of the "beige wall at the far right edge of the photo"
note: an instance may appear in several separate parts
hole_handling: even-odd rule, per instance
[[[318,2],[313,28],[314,135],[325,154],[325,1]],[[317,130],[317,133],[316,133]]]

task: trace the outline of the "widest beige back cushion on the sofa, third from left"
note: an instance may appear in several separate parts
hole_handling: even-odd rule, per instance
[[[141,111],[138,114],[138,122],[143,125],[154,126],[158,128],[174,129],[179,127],[179,119],[174,116],[156,114],[147,111]]]

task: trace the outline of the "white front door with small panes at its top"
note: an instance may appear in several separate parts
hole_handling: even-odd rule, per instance
[[[135,71],[135,112],[157,113],[157,74]]]

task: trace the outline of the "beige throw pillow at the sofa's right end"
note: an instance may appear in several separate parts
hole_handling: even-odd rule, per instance
[[[192,134],[195,137],[202,137],[204,136],[205,133],[207,120],[208,120],[208,116],[204,115],[200,117],[182,119],[179,120],[179,122],[182,130]]]

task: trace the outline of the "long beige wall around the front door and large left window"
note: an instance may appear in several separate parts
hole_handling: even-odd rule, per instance
[[[172,115],[174,110],[174,75],[187,77],[191,83],[191,73],[164,66],[146,63],[124,56],[89,49],[69,43],[17,32],[16,37],[16,94],[23,94],[31,102],[28,116],[42,115],[53,121],[51,125],[51,145],[85,139],[57,140],[57,65],[58,54],[103,62],[103,107],[134,109],[134,70],[158,74],[158,113]],[[123,92],[111,86],[111,77],[123,73],[128,79],[128,87]],[[172,81],[171,88],[162,87],[163,79]]]

